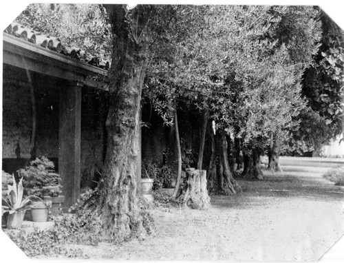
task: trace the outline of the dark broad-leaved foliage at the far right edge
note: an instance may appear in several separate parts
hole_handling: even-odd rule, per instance
[[[320,21],[321,47],[302,81],[308,107],[297,117],[300,129],[292,131],[288,153],[319,151],[343,132],[344,33],[323,11]]]

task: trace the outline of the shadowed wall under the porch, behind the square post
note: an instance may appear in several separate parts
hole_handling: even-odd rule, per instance
[[[5,77],[5,74],[4,74]],[[35,89],[36,154],[58,162],[58,89]],[[105,109],[91,90],[83,89],[81,104],[81,186],[91,186],[96,169],[103,166]],[[30,86],[3,78],[3,169],[13,172],[30,158],[32,103]]]

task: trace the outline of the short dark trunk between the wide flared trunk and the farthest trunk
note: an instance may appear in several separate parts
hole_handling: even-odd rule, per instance
[[[257,149],[252,149],[251,154],[244,153],[244,171],[242,171],[241,176],[246,179],[263,179],[260,155]]]

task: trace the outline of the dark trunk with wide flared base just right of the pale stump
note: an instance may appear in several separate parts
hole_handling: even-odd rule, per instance
[[[234,195],[241,192],[241,187],[237,180],[233,178],[228,163],[227,154],[227,140],[224,131],[217,129],[214,136],[212,136],[212,154],[209,163],[209,180],[211,180],[210,187],[217,193],[224,193],[225,195]],[[225,186],[226,184],[226,186]]]

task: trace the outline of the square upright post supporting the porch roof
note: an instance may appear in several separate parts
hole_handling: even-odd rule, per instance
[[[60,87],[58,125],[58,173],[62,178],[65,207],[80,197],[81,87],[69,82]]]

